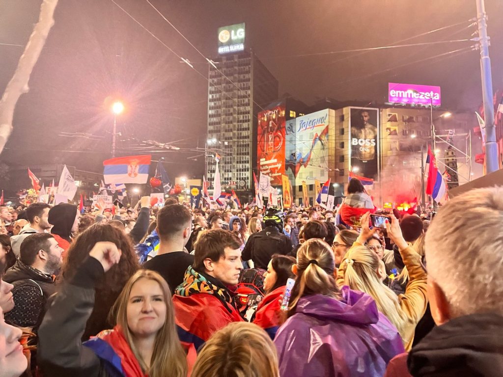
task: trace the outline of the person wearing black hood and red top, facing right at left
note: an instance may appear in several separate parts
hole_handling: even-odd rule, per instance
[[[51,234],[64,251],[68,250],[71,234],[76,228],[78,207],[74,204],[60,203],[49,210],[49,224],[52,225]]]

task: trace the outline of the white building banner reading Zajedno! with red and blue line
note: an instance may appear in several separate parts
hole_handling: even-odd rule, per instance
[[[308,177],[328,179],[328,109],[296,118],[295,127],[295,152],[285,166],[295,184]]]

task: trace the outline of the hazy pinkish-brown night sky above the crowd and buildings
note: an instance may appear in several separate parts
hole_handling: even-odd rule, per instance
[[[278,78],[280,95],[288,92],[307,104],[325,97],[385,102],[388,82],[407,82],[440,85],[443,107],[452,110],[476,110],[481,103],[478,51],[435,57],[474,42],[328,53],[388,46],[455,24],[399,44],[472,38],[476,26],[468,27],[468,20],[476,16],[475,0],[150,0],[202,55],[146,0],[114,1],[205,77],[202,55],[216,56],[218,27],[245,22],[246,47]],[[503,3],[485,3],[496,90],[503,88]],[[0,0],[0,44],[25,45],[40,4]],[[23,47],[0,45],[2,92],[22,52]],[[190,149],[205,142],[208,82],[176,54],[111,0],[59,0],[55,25],[30,92],[18,102],[14,132],[0,161],[101,171],[110,156],[113,124],[107,98],[122,98],[127,106],[118,119],[123,137],[173,142],[182,149],[153,158],[164,157],[172,176],[200,177],[204,159],[190,159],[198,154]],[[69,138],[62,132],[100,138]]]

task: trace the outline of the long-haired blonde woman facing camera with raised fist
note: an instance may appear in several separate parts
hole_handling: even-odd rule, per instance
[[[96,281],[121,258],[112,242],[97,242],[63,283],[39,329],[38,361],[44,374],[89,377],[185,377],[186,354],[175,328],[166,281],[139,270],[126,282],[112,310],[116,326],[81,343],[93,310]]]

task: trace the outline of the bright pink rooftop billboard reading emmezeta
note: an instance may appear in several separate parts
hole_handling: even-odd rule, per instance
[[[388,83],[389,102],[440,106],[440,86]]]

